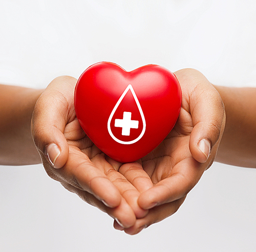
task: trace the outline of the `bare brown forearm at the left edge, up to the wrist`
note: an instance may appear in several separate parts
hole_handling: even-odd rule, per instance
[[[0,165],[40,163],[30,123],[41,90],[0,85]]]

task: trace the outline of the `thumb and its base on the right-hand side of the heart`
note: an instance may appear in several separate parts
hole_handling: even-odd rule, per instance
[[[198,162],[204,163],[223,133],[224,105],[218,91],[200,72],[187,69],[175,74],[183,87],[182,103],[188,103],[193,121],[189,149]]]

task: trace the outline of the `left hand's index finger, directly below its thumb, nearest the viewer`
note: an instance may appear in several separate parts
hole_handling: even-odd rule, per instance
[[[104,171],[96,167],[77,147],[70,146],[69,157],[62,169],[53,171],[62,181],[93,194],[110,208],[117,207],[121,195]]]

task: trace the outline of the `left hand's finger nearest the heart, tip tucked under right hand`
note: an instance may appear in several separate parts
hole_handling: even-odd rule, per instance
[[[104,167],[108,178],[131,206],[136,217],[143,218],[146,216],[148,211],[140,208],[137,202],[140,192],[121,173],[116,171],[110,163],[106,162],[104,155],[96,155],[91,160],[97,167]],[[111,162],[111,160],[109,161]]]

